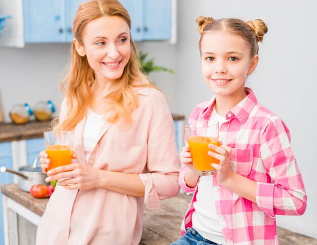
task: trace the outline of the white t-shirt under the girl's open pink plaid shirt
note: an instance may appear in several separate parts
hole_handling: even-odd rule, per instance
[[[220,129],[226,118],[218,115],[214,107],[210,120],[219,121]],[[222,140],[221,135],[219,135],[219,139]],[[197,201],[193,205],[195,212],[192,215],[192,227],[204,238],[219,244],[225,244],[214,205],[213,175],[200,177],[196,199]]]

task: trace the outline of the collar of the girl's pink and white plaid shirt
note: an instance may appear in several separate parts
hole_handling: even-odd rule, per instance
[[[247,97],[244,98],[242,101],[240,101],[236,106],[234,106],[231,110],[229,110],[226,114],[226,120],[236,117],[241,124],[244,124],[252,109],[254,106],[258,103],[252,89],[245,88],[245,93],[247,94]],[[204,120],[209,120],[211,112],[215,106],[216,98],[215,96],[211,99],[210,104],[208,103],[206,108],[203,110],[203,118]]]

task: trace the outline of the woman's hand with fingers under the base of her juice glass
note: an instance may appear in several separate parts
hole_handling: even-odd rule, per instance
[[[69,164],[50,170],[46,181],[58,180],[58,185],[68,190],[88,190],[97,187],[99,171],[80,163]]]

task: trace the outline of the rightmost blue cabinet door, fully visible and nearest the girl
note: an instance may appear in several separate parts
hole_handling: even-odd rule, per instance
[[[143,0],[143,40],[171,39],[171,0]]]

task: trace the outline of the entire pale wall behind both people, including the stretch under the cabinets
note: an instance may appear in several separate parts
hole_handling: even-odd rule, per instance
[[[138,43],[140,50],[154,57],[157,65],[176,74],[153,72],[152,80],[169,97],[173,113],[187,117],[194,106],[211,98],[200,69],[197,17],[260,18],[268,33],[260,46],[260,61],[249,77],[260,103],[279,115],[291,131],[292,147],[302,172],[308,205],[303,216],[278,216],[278,225],[317,238],[317,173],[315,139],[316,109],[317,2],[267,0],[179,0],[177,3],[177,44],[164,42]],[[0,48],[0,92],[6,119],[17,103],[51,99],[61,100],[59,83],[65,76],[67,44],[32,44],[23,49]]]

